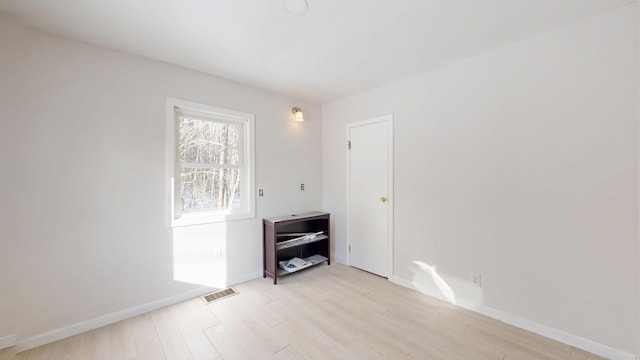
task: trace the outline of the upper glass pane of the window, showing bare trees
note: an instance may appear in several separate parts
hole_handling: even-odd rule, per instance
[[[195,164],[240,165],[240,129],[234,124],[178,118],[178,160]]]

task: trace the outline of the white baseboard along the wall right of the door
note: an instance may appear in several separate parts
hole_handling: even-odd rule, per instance
[[[425,295],[434,297],[436,299],[439,300],[443,300],[443,301],[447,301],[447,299],[445,299],[442,294],[440,294],[439,291],[435,290],[435,289],[431,289],[428,287],[423,287],[420,286],[419,288],[416,287],[411,281],[403,279],[397,275],[393,275],[389,278],[389,280],[391,280],[392,282],[416,290],[420,293],[423,293]],[[638,360],[638,357],[635,354],[623,351],[623,350],[619,350],[619,349],[614,349],[612,347],[609,347],[607,345],[603,345],[600,343],[597,343],[595,341],[589,340],[589,339],[585,339],[583,337],[577,336],[577,335],[573,335],[567,332],[564,332],[562,330],[558,330],[552,327],[548,327],[548,326],[544,326],[544,325],[540,325],[537,324],[535,322],[529,321],[529,320],[525,320],[507,313],[504,313],[502,311],[490,308],[488,306],[482,305],[482,304],[478,304],[469,300],[465,300],[465,299],[456,299],[456,302],[458,306],[467,309],[467,310],[471,310],[486,316],[489,316],[491,318],[494,318],[496,320],[500,320],[502,322],[505,322],[507,324],[516,326],[518,328],[530,331],[532,333],[547,337],[549,339],[553,339],[559,342],[562,342],[564,344],[567,345],[571,345],[573,347],[588,351],[590,353],[605,357],[607,359],[612,359],[612,360]]]

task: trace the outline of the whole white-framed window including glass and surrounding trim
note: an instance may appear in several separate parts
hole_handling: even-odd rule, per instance
[[[254,115],[167,100],[171,226],[255,217]]]

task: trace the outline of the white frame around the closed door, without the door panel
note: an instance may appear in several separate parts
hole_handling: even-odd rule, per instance
[[[393,196],[393,113],[391,114],[387,114],[387,115],[381,115],[381,116],[377,116],[374,118],[370,118],[367,120],[361,120],[361,121],[355,121],[352,123],[347,123],[346,126],[346,141],[347,144],[350,144],[351,141],[351,129],[355,128],[355,127],[360,127],[360,126],[365,126],[365,125],[371,125],[371,124],[375,124],[375,123],[380,123],[380,122],[386,122],[387,123],[387,130],[388,130],[388,147],[387,147],[387,151],[388,151],[388,170],[389,170],[389,179],[388,179],[388,186],[389,189],[387,191],[387,197],[388,197],[388,203],[389,203],[389,215],[388,215],[388,219],[387,219],[387,223],[388,223],[388,229],[389,229],[389,233],[387,235],[387,279],[391,280],[391,278],[393,277],[394,273],[393,273],[393,204],[395,203],[395,199]],[[347,149],[346,151],[346,157],[347,157],[347,169],[346,169],[346,178],[347,178],[347,198],[346,198],[346,202],[347,202],[347,212],[346,212],[346,224],[345,224],[345,253],[347,254],[346,259],[347,259],[347,265],[351,266],[351,253],[349,252],[349,245],[351,244],[351,239],[349,239],[349,210],[350,210],[350,198],[351,198],[351,154],[349,152],[349,149]]]

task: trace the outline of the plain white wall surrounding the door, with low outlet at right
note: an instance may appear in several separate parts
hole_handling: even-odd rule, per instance
[[[632,5],[324,106],[336,258],[345,125],[393,113],[398,279],[437,291],[412,262],[436,265],[459,298],[638,353],[635,22]]]

